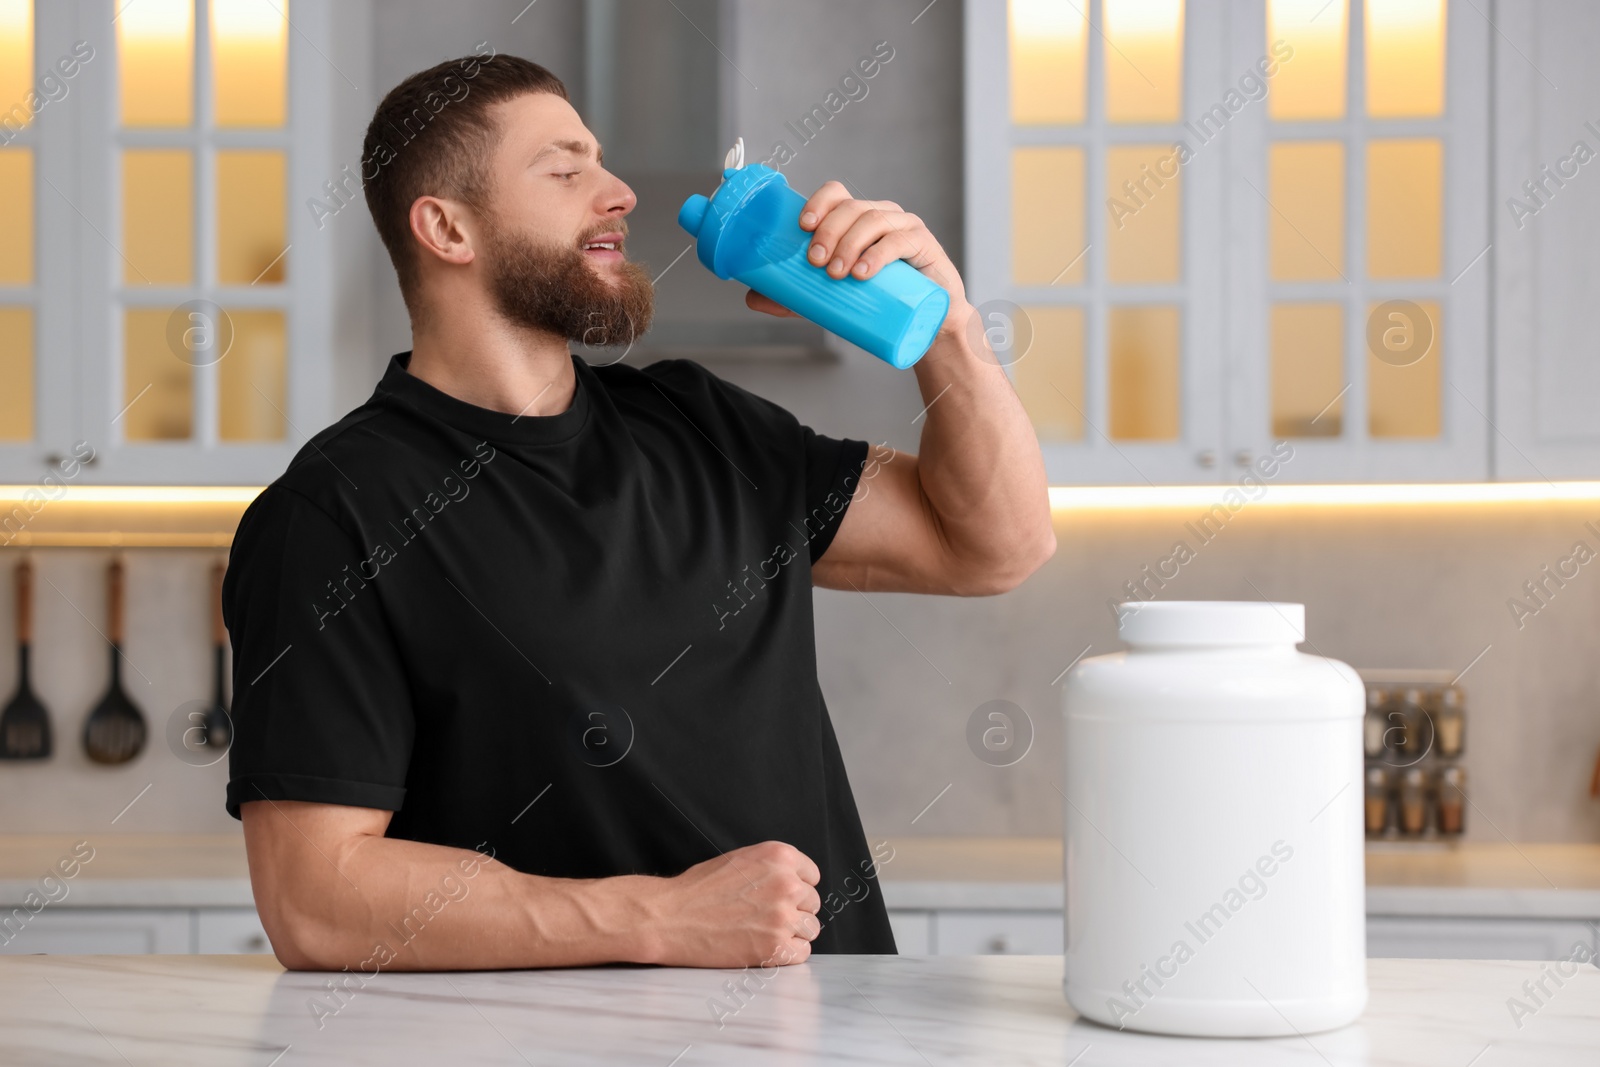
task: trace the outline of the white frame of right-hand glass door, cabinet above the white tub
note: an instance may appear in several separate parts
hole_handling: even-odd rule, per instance
[[[1288,438],[1294,448],[1285,480],[1328,482],[1485,482],[1490,477],[1491,405],[1490,293],[1491,251],[1485,205],[1490,202],[1491,27],[1466,0],[1445,13],[1443,120],[1370,120],[1365,115],[1365,0],[1349,3],[1347,117],[1338,122],[1272,123],[1267,101],[1246,107],[1229,126],[1227,427],[1230,456],[1270,450],[1269,314],[1274,298],[1344,304],[1344,426],[1334,438]],[[1243,72],[1266,54],[1266,0],[1234,0],[1232,59]],[[1293,61],[1291,61],[1293,62]],[[1270,91],[1270,90],[1269,90]],[[1270,99],[1270,98],[1269,98]],[[1277,134],[1275,138],[1269,134]],[[1442,277],[1371,282],[1366,267],[1366,144],[1382,136],[1435,136],[1445,144]],[[1349,282],[1274,283],[1269,277],[1270,139],[1342,139],[1346,144],[1346,261]],[[1248,181],[1248,184],[1246,184]],[[1254,187],[1251,187],[1254,186]],[[1366,307],[1410,296],[1443,304],[1438,344],[1438,440],[1373,440],[1366,434]]]

